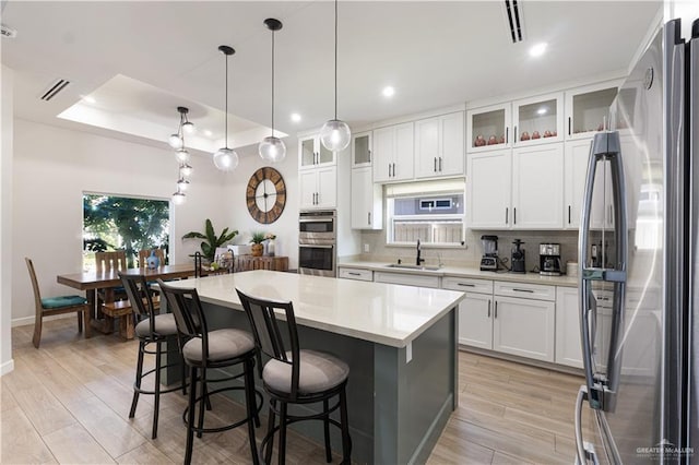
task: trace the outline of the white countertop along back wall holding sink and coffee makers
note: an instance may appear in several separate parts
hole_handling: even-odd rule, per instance
[[[457,277],[471,277],[477,279],[491,279],[491,281],[509,281],[514,283],[532,283],[532,284],[545,284],[549,286],[567,286],[577,287],[578,277],[571,276],[542,276],[538,273],[508,273],[502,272],[486,272],[478,269],[465,267],[465,266],[442,266],[439,270],[412,270],[390,267],[387,262],[367,262],[367,261],[348,261],[342,262],[337,267],[347,269],[362,269],[380,271],[388,273],[408,273],[419,274],[428,276],[457,276]]]

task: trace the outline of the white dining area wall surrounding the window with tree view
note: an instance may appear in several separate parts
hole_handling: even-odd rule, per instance
[[[4,95],[2,106],[4,111]],[[183,234],[203,230],[205,218],[222,225],[228,217],[225,175],[204,155],[193,155],[191,165],[194,172],[187,202],[173,214],[173,263],[186,263],[188,253],[199,249],[198,241],[182,242]],[[34,260],[43,295],[79,293],[57,284],[56,275],[82,270],[83,192],[169,200],[177,174],[169,150],[15,119],[13,324],[33,323],[34,300],[25,257]]]

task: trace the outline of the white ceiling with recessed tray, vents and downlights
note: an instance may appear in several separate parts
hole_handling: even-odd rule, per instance
[[[656,1],[520,0],[524,37],[512,44],[502,1],[348,1],[339,5],[339,114],[353,127],[434,108],[626,70],[656,17]],[[2,1],[2,63],[14,70],[15,115],[166,146],[176,108],[190,108],[209,151],[221,143],[229,45],[232,146],[270,126],[271,33],[276,33],[275,128],[320,127],[333,116],[333,2]],[[548,52],[530,59],[538,41]],[[57,79],[71,84],[46,103]],[[386,85],[391,99],[381,97]],[[82,96],[103,128],[58,115]],[[72,110],[74,112],[74,109]],[[293,122],[292,112],[301,115]],[[202,130],[213,134],[204,136]]]

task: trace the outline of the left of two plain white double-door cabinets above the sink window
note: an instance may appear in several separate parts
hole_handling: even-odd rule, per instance
[[[374,182],[413,179],[413,122],[374,130]]]

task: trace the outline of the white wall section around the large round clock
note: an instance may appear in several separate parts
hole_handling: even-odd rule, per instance
[[[298,140],[294,136],[284,139],[286,144],[286,158],[282,163],[270,165],[258,155],[258,146],[250,145],[237,148],[240,164],[235,172],[228,177],[235,177],[235,181],[226,184],[225,198],[227,202],[226,226],[238,229],[240,233],[234,239],[234,243],[249,243],[252,231],[264,231],[276,235],[276,255],[289,258],[289,269],[298,266]],[[246,188],[252,174],[263,166],[272,166],[280,171],[286,184],[286,206],[284,212],[270,225],[256,222],[248,213],[246,204]],[[216,225],[214,225],[216,226]]]

